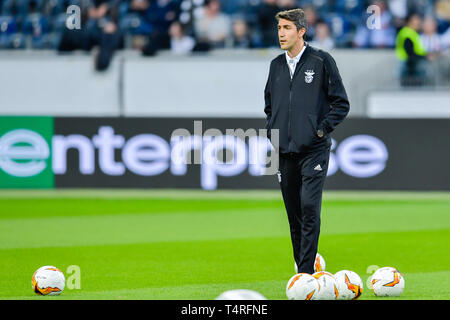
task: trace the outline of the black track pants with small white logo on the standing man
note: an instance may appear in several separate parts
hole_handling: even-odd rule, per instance
[[[330,150],[280,154],[278,181],[289,220],[298,272],[312,274],[320,233],[322,190]]]

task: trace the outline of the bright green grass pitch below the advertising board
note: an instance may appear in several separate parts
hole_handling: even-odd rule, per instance
[[[278,191],[0,191],[0,299],[285,299],[294,273]],[[400,299],[450,299],[450,193],[326,192],[327,270],[405,277]],[[43,265],[81,268],[81,289],[36,296]],[[68,278],[66,274],[66,278]],[[392,298],[390,298],[392,299]]]

